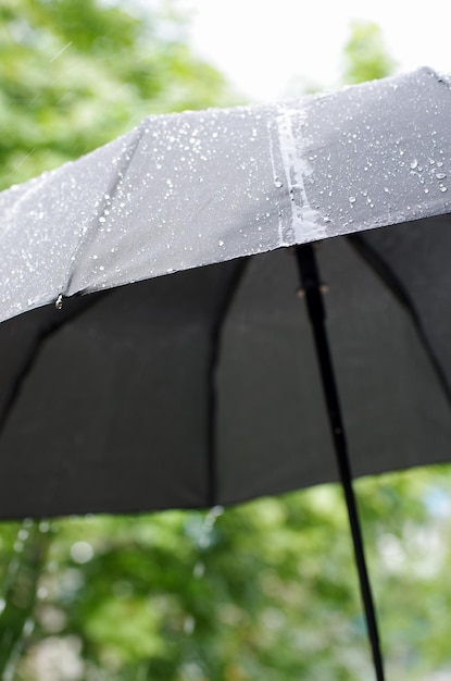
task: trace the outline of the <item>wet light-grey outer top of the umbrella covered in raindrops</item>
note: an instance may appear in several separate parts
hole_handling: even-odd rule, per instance
[[[0,320],[62,294],[447,213],[450,84],[152,116],[0,194]]]

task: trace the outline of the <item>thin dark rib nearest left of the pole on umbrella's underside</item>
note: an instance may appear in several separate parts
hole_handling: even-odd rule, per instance
[[[250,260],[250,256],[237,260],[237,268],[234,275],[226,287],[226,292],[222,297],[217,307],[217,313],[213,320],[211,330],[210,359],[208,366],[208,433],[206,433],[206,471],[208,471],[208,492],[206,506],[213,508],[218,503],[217,491],[217,367],[221,358],[221,340],[223,335],[224,323],[227,319],[228,311],[235,299],[235,295],[239,288],[242,276],[246,272]]]

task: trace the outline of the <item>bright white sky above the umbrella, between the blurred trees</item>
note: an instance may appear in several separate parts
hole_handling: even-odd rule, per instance
[[[280,99],[293,79],[334,87],[352,20],[374,21],[399,71],[451,73],[451,3],[444,0],[181,0],[191,41],[251,100]]]

